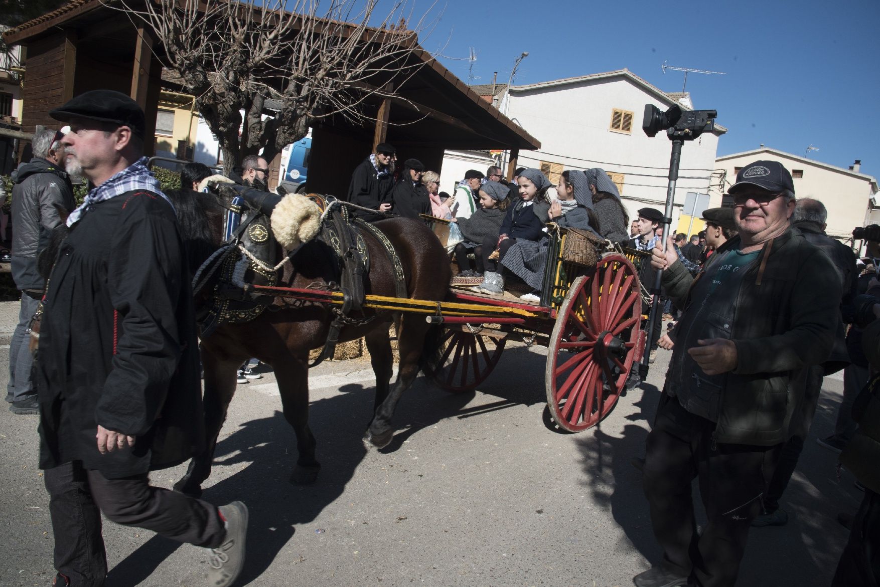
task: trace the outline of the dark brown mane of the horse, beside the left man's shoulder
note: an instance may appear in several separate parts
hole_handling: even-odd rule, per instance
[[[193,190],[169,190],[165,192],[177,212],[180,238],[187,250],[190,274],[219,246],[219,232],[212,229],[223,222],[223,207],[216,196]]]

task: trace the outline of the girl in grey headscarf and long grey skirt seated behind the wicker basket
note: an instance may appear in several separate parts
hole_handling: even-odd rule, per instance
[[[563,171],[556,194],[557,199],[550,204],[550,221],[560,228],[581,228],[598,236],[593,229],[598,229],[598,217],[593,211],[590,184],[583,171]],[[539,243],[517,243],[504,256],[501,262],[504,268],[532,287],[532,291],[519,296],[520,299],[540,301],[548,251],[549,240],[545,237]]]

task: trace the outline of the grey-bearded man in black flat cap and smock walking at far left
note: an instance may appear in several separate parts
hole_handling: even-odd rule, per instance
[[[91,191],[67,219],[40,324],[40,468],[56,585],[103,585],[101,514],[211,548],[209,582],[244,561],[247,510],[150,485],[202,451],[198,341],[171,203],[144,164],[143,111],[89,91],[49,112],[70,124],[67,169]]]

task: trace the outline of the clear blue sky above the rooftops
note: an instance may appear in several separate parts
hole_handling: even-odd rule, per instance
[[[415,13],[427,10],[415,6]],[[422,47],[462,80],[474,47],[473,83],[515,84],[630,69],[663,91],[681,91],[668,65],[726,72],[689,74],[695,108],[714,108],[729,129],[718,155],[760,143],[843,168],[862,160],[880,176],[880,2],[502,3],[448,0]],[[458,59],[453,59],[458,58]],[[538,137],[540,138],[540,137]]]

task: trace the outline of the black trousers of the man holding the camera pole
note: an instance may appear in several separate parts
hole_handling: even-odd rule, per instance
[[[715,443],[713,431],[713,422],[664,393],[648,435],[644,491],[664,568],[691,576],[701,587],[732,587],[781,445]],[[694,477],[708,517],[701,536],[693,514]]]

